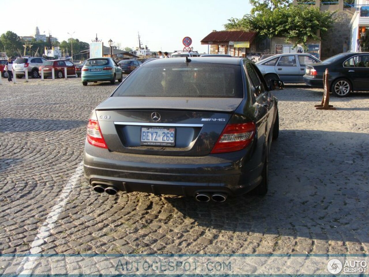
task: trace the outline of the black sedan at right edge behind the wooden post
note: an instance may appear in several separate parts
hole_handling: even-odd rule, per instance
[[[346,52],[308,65],[304,75],[306,85],[323,88],[326,68],[328,83],[335,96],[346,97],[352,91],[369,91],[369,52]]]

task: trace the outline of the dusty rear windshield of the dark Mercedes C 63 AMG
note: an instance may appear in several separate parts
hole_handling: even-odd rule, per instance
[[[113,96],[243,98],[241,66],[148,63],[137,68]]]

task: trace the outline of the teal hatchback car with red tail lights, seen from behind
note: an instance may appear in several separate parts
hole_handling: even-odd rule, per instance
[[[86,61],[81,73],[82,84],[88,82],[110,81],[115,84],[123,81],[122,69],[112,58],[91,58]]]

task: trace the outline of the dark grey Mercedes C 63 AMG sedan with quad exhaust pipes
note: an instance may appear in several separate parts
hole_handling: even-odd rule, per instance
[[[279,133],[273,88],[244,58],[146,62],[91,113],[85,177],[108,194],[264,195]]]

